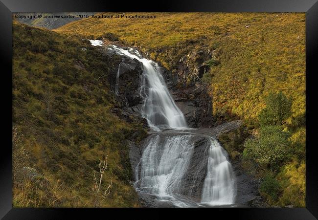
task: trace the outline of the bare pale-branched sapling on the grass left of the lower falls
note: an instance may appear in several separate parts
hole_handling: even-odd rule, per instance
[[[101,185],[102,185],[102,179],[104,176],[104,172],[107,169],[107,157],[105,157],[103,164],[102,161],[99,160],[99,181],[97,181],[96,172],[93,172],[95,183],[94,183],[94,207],[99,207],[100,204],[104,201],[105,198],[110,194],[111,192],[111,186],[112,186],[112,180],[111,183],[108,185],[107,189],[101,193]]]

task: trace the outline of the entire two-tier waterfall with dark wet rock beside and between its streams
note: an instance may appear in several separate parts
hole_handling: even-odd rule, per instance
[[[91,43],[103,45],[101,41]],[[189,120],[174,102],[165,83],[169,80],[161,74],[162,67],[133,48],[115,45],[104,48],[109,55],[122,57],[113,84],[122,107],[131,109],[127,116],[141,115],[150,128],[150,135],[140,146],[132,143],[130,152],[134,187],[145,206],[237,207],[252,200],[246,192],[240,192],[246,177],[235,176],[227,152],[216,139],[220,133],[239,127],[241,122],[212,129],[188,128]],[[135,80],[125,77],[125,72],[134,71]],[[135,85],[125,91],[121,84]]]

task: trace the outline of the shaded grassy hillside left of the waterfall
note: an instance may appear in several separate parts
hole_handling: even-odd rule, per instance
[[[112,187],[101,206],[138,206],[127,139],[143,130],[111,112],[112,65],[88,41],[14,22],[15,207],[93,206],[106,155],[101,190]]]

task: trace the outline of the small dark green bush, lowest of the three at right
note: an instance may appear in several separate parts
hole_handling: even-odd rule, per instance
[[[271,202],[277,201],[281,190],[282,189],[279,182],[274,178],[272,173],[269,173],[267,176],[265,176],[260,188],[260,192],[263,196],[265,196]]]

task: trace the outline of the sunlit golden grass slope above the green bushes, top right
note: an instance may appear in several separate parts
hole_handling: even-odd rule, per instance
[[[157,18],[84,19],[56,31],[95,38],[114,33],[172,71],[182,56],[204,45],[220,62],[204,75],[215,116],[238,115],[253,124],[264,98],[278,89],[293,97],[295,117],[304,114],[304,13],[147,14]]]

